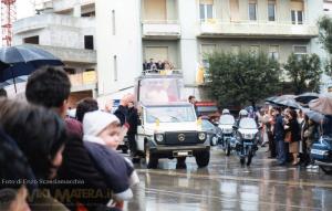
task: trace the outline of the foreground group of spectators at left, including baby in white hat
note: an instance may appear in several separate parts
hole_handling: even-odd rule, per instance
[[[74,119],[70,89],[63,70],[42,67],[28,80],[27,101],[0,97],[0,210],[122,210],[133,197],[137,173],[115,151],[133,102],[114,115],[86,98]]]

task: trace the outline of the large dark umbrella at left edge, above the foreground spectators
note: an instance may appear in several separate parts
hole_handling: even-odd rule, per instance
[[[1,68],[0,82],[11,78],[14,85],[15,77],[29,75],[43,65],[63,65],[60,59],[42,49],[32,45],[1,48],[0,61],[10,65],[10,67]]]

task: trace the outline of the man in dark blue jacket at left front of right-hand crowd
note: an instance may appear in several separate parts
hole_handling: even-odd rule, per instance
[[[274,125],[274,140],[278,151],[278,163],[279,165],[286,165],[287,161],[287,154],[286,154],[286,146],[284,146],[284,129],[283,129],[283,119],[281,116],[281,108],[277,107],[274,108],[276,113],[276,125]]]

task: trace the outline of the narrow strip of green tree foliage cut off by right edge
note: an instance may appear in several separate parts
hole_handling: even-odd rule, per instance
[[[330,59],[326,62],[324,70],[326,75],[332,77],[332,19],[324,15],[319,20],[319,29],[320,29],[320,41],[323,44],[324,49],[330,54]]]

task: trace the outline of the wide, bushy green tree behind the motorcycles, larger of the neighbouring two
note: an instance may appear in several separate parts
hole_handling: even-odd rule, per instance
[[[280,88],[280,65],[263,53],[215,52],[208,62],[209,94],[220,106],[255,106]]]

